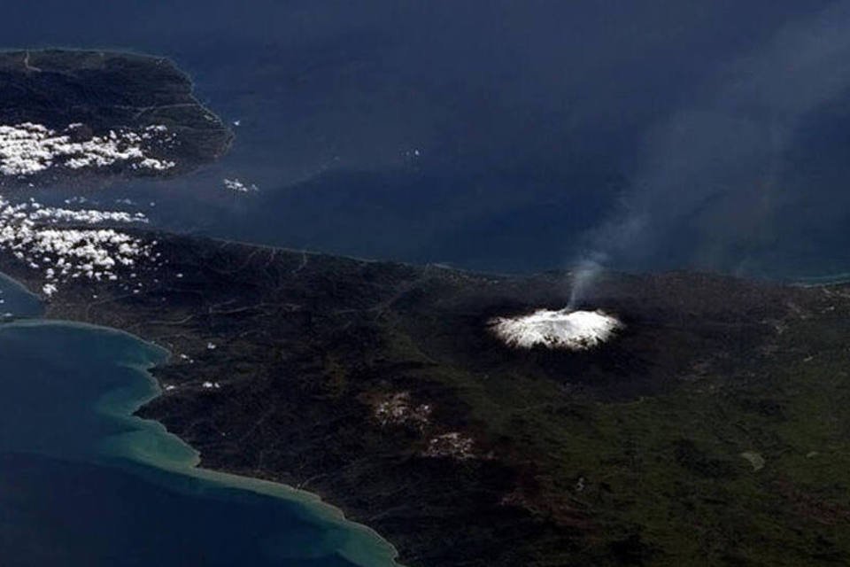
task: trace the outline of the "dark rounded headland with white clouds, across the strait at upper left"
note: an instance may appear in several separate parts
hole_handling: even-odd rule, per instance
[[[0,51],[0,187],[185,174],[232,132],[167,58]]]

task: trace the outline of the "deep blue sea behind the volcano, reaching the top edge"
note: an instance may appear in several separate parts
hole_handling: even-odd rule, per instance
[[[89,195],[168,229],[497,271],[595,249],[638,270],[850,269],[844,1],[4,10],[8,47],[174,58],[234,123],[231,153],[197,175]]]

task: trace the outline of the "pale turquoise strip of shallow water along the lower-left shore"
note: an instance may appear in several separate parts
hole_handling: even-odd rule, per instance
[[[36,299],[38,298],[37,295],[27,290],[26,285],[11,276],[0,272],[0,279],[18,287],[20,291],[25,291]],[[118,390],[105,392],[101,400],[98,401],[97,407],[94,408],[97,413],[124,423],[131,430],[104,439],[102,449],[107,460],[109,458],[126,459],[151,466],[154,469],[197,478],[222,487],[251,491],[294,503],[303,507],[303,510],[298,510],[299,514],[305,514],[306,517],[334,524],[340,529],[352,532],[353,537],[346,540],[346,546],[338,549],[339,554],[344,556],[345,559],[368,567],[383,567],[384,565],[387,567],[403,567],[396,562],[398,550],[389,541],[384,540],[378,532],[369,526],[348,519],[342,509],[323,501],[318,494],[262,478],[251,478],[222,470],[205,469],[200,466],[200,453],[183,439],[167,431],[165,425],[156,420],[135,416],[135,411],[138,408],[158,398],[162,393],[158,380],[153,377],[150,370],[167,363],[171,357],[171,353],[163,346],[144,340],[126,330],[87,322],[42,319],[40,315],[25,315],[25,318],[0,322],[0,324],[7,328],[62,326],[114,333],[131,338],[147,349],[146,358],[148,360],[124,365],[134,369],[143,382],[127,384]],[[378,563],[375,563],[376,558]]]

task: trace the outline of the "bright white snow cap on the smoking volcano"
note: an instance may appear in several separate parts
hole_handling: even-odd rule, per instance
[[[491,330],[507,346],[531,348],[545,346],[568,350],[587,350],[604,343],[623,324],[603,311],[539,309],[531,315],[497,317]]]

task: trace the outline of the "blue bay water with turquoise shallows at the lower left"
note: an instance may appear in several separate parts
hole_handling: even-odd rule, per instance
[[[14,306],[34,315],[26,294]],[[0,564],[393,564],[313,496],[198,470],[190,447],[130,416],[165,357],[118,331],[0,324]]]

